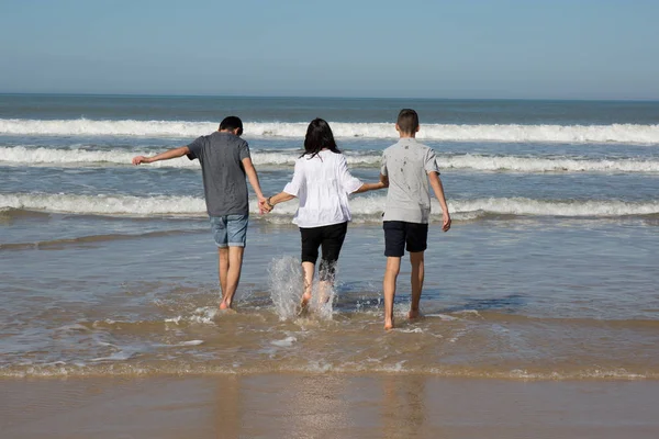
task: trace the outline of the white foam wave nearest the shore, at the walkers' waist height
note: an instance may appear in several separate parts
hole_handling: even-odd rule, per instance
[[[355,221],[380,221],[384,195],[357,196],[350,200]],[[456,219],[473,219],[484,214],[568,216],[568,217],[618,217],[627,215],[659,214],[659,201],[545,201],[525,198],[490,198],[454,200],[448,202]],[[290,223],[297,203],[283,203],[268,215],[258,215],[255,200],[250,202],[254,217],[275,223]],[[0,209],[22,209],[56,213],[126,216],[205,216],[203,199],[193,196],[133,196],[133,195],[74,195],[74,194],[0,194]],[[442,210],[433,201],[433,216]]]

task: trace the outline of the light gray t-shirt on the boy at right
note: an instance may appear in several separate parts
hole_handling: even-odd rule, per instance
[[[380,172],[389,177],[384,221],[427,224],[431,192],[427,173],[439,173],[435,151],[413,137],[384,149]]]

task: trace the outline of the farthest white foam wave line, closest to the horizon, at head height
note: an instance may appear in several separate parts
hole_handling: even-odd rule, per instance
[[[331,122],[337,137],[395,138],[392,123]],[[308,122],[253,122],[247,137],[304,137]],[[197,137],[216,122],[0,119],[0,134],[56,136]],[[447,142],[560,142],[659,144],[659,124],[612,125],[423,125],[418,138]]]

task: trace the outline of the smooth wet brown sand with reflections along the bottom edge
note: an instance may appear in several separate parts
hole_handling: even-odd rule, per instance
[[[1,380],[13,438],[657,438],[659,382],[414,374]]]

